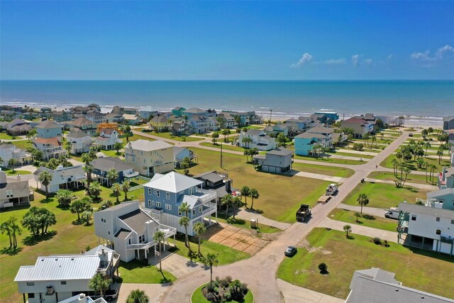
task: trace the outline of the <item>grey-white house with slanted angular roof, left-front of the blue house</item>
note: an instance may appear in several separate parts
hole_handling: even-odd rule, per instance
[[[140,209],[138,201],[123,202],[96,211],[94,233],[113,245],[123,262],[135,258],[147,260],[148,254],[159,249],[153,240],[157,231],[163,231],[166,239],[177,233],[175,228],[160,224],[149,213]]]

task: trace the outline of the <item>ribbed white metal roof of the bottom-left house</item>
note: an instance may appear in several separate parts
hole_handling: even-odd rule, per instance
[[[38,257],[34,266],[21,266],[14,281],[89,280],[99,262],[97,255]]]

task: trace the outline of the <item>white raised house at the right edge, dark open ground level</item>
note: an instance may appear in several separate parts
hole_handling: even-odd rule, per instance
[[[428,192],[425,205],[399,204],[399,240],[405,244],[454,255],[454,188]]]

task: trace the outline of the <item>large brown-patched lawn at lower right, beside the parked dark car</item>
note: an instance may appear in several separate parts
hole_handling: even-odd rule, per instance
[[[315,251],[298,248],[293,258],[279,265],[277,277],[294,285],[345,299],[355,270],[382,268],[395,272],[395,279],[406,287],[454,297],[454,287],[446,287],[446,277],[454,272],[453,258],[438,253],[409,249],[397,243],[377,246],[369,238],[342,231],[315,228],[307,237]],[[328,265],[328,275],[321,275],[319,263]]]

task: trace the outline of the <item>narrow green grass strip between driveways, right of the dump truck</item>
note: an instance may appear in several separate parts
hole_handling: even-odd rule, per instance
[[[384,214],[384,211],[383,211]],[[377,216],[371,216],[368,214],[362,214],[356,221],[355,211],[348,211],[346,209],[334,209],[331,211],[331,214],[328,215],[330,219],[343,221],[348,224],[358,224],[367,227],[384,229],[385,231],[396,231],[397,220],[384,219]],[[355,231],[355,226],[352,227],[353,232]]]

